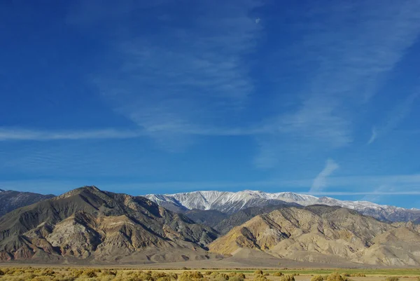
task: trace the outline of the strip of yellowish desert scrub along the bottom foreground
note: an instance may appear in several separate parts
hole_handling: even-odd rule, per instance
[[[0,281],[420,281],[420,270],[405,275],[368,275],[364,272],[330,272],[317,270],[141,270],[139,268],[0,268]],[[318,270],[319,271],[319,270]],[[398,271],[393,271],[395,273]],[[407,270],[401,271],[407,273]],[[311,274],[315,273],[315,274]],[[297,278],[297,279],[296,279]]]

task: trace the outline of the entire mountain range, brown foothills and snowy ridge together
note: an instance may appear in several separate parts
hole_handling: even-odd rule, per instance
[[[0,217],[0,261],[420,266],[419,210],[261,191],[33,196]]]

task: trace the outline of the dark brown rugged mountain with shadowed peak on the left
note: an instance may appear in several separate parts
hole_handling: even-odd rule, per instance
[[[207,259],[216,235],[144,197],[85,186],[1,217],[0,260]]]

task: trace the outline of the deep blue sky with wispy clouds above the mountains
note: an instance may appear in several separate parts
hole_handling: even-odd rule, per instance
[[[0,36],[1,189],[420,207],[419,0],[2,1]]]

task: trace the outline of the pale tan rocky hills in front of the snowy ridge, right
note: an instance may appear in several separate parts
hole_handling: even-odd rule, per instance
[[[288,207],[253,217],[209,248],[233,256],[254,249],[296,261],[419,266],[420,233],[411,226],[386,224],[341,207]]]

